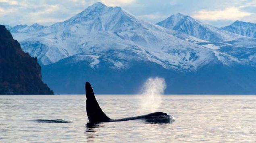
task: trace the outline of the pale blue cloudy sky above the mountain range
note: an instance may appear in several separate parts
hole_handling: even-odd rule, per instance
[[[235,20],[256,23],[256,0],[0,0],[0,24],[49,26],[69,19],[95,2],[122,7],[152,23],[176,13],[216,27]]]

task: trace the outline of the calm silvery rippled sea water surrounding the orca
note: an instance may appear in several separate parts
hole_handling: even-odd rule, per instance
[[[141,111],[137,96],[97,95],[117,119]],[[142,120],[86,126],[85,96],[0,96],[0,142],[256,142],[256,96],[163,96],[157,111],[174,123]],[[73,123],[38,123],[64,119]]]

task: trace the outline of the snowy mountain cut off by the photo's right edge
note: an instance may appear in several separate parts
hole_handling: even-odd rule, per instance
[[[256,38],[256,24],[236,20],[229,26],[221,28],[235,34]]]

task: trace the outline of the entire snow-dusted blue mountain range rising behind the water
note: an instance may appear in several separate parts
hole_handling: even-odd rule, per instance
[[[57,94],[136,94],[149,77],[166,94],[255,94],[255,24],[217,28],[175,14],[152,24],[97,2],[51,26],[6,26]],[[115,89],[115,90],[113,90]]]

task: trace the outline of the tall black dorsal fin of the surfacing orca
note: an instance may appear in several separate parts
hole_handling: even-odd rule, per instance
[[[85,83],[86,113],[90,123],[108,122],[110,118],[100,109],[90,83]]]

